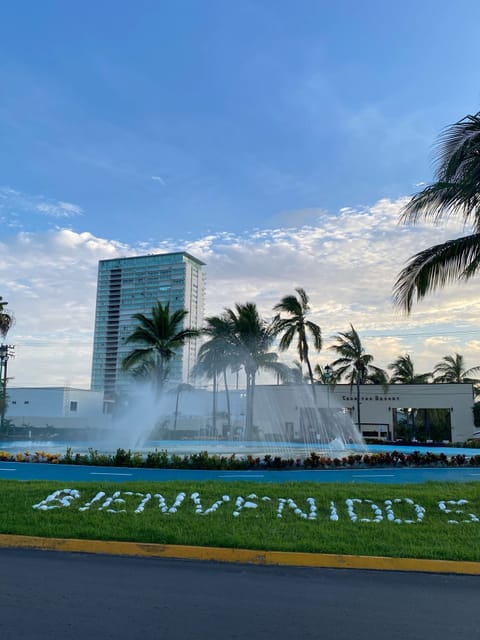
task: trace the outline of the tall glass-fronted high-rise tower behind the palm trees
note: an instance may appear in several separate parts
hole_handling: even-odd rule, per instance
[[[113,398],[128,384],[123,358],[135,345],[126,338],[136,326],[135,313],[151,315],[159,300],[170,311],[186,309],[185,328],[200,328],[204,312],[205,263],[185,252],[101,260],[98,264],[97,305],[91,387]],[[170,379],[187,381],[195,364],[198,340],[188,341],[172,359]]]

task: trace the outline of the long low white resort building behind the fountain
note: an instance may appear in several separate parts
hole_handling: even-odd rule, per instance
[[[323,387],[323,389],[322,389]],[[329,389],[317,387],[318,407],[342,411],[358,424],[356,387],[336,385]],[[301,391],[301,393],[300,393]],[[323,393],[321,393],[323,391]],[[205,435],[213,438],[241,439],[245,424],[245,392],[230,392],[230,433],[226,429],[227,402],[223,391],[217,397],[215,433],[212,427],[212,393],[207,390],[189,391],[177,398],[168,394],[169,402],[162,404],[159,419],[170,431],[168,439],[197,439]],[[103,392],[55,388],[8,389],[7,418],[17,427],[62,429],[115,429],[111,415],[105,414]],[[405,408],[439,410],[447,417],[446,440],[463,442],[475,431],[473,422],[473,388],[471,384],[392,384],[360,385],[360,423],[364,436],[393,440],[399,436],[398,417]],[[301,442],[306,436],[308,414],[312,409],[308,385],[258,385],[255,392],[255,424],[261,429],[260,439]],[[175,417],[175,413],[177,413]],[[175,433],[172,433],[172,429]],[[309,427],[308,427],[309,428]],[[438,439],[438,438],[437,438]],[[444,439],[444,438],[442,438]]]

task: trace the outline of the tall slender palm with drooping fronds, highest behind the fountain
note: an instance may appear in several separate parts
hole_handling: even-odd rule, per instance
[[[313,395],[315,398],[315,386],[312,365],[308,357],[309,345],[307,335],[313,338],[313,347],[316,351],[322,348],[322,331],[318,324],[307,320],[307,314],[310,311],[309,299],[304,289],[297,287],[295,291],[297,296],[284,296],[281,301],[276,304],[274,311],[288,314],[287,318],[280,315],[275,318],[275,327],[277,333],[281,333],[279,348],[280,351],[286,351],[294,338],[297,340],[297,353],[300,362],[307,365],[308,377],[312,385]]]

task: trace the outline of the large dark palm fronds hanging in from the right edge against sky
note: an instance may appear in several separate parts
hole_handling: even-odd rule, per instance
[[[468,280],[480,267],[480,112],[447,127],[437,144],[436,180],[413,196],[401,222],[451,217],[473,233],[424,249],[410,258],[394,285],[394,301],[407,313],[414,299],[448,282]]]

